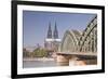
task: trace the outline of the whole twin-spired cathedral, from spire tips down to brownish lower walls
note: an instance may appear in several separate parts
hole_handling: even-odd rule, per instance
[[[57,30],[56,23],[53,31],[50,23],[48,28],[48,35],[44,40],[44,48],[49,52],[56,52],[58,51],[59,43],[60,43],[60,39],[58,38],[58,30]]]

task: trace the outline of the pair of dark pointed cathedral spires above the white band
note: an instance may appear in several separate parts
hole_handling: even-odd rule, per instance
[[[57,39],[58,38],[58,31],[57,31],[57,27],[56,27],[56,23],[55,23],[55,28],[54,28],[54,31],[52,34],[52,29],[51,29],[51,23],[49,24],[49,30],[48,30],[48,36],[46,38],[54,38],[54,39]]]

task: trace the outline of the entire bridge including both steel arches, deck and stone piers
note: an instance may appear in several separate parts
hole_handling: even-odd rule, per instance
[[[68,63],[82,61],[86,65],[97,64],[97,16],[93,17],[83,31],[67,30],[59,48],[57,60],[62,62],[65,60]]]

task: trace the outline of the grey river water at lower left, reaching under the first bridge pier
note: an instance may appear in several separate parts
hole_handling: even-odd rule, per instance
[[[56,66],[69,66],[68,63],[57,63],[56,61],[23,61],[23,68],[37,68],[37,67],[56,67]]]

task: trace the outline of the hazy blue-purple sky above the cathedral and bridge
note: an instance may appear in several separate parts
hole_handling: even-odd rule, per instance
[[[50,23],[52,31],[56,23],[59,39],[64,37],[68,29],[83,31],[95,15],[89,13],[23,11],[23,44],[24,47],[35,47],[39,43],[43,47]]]

